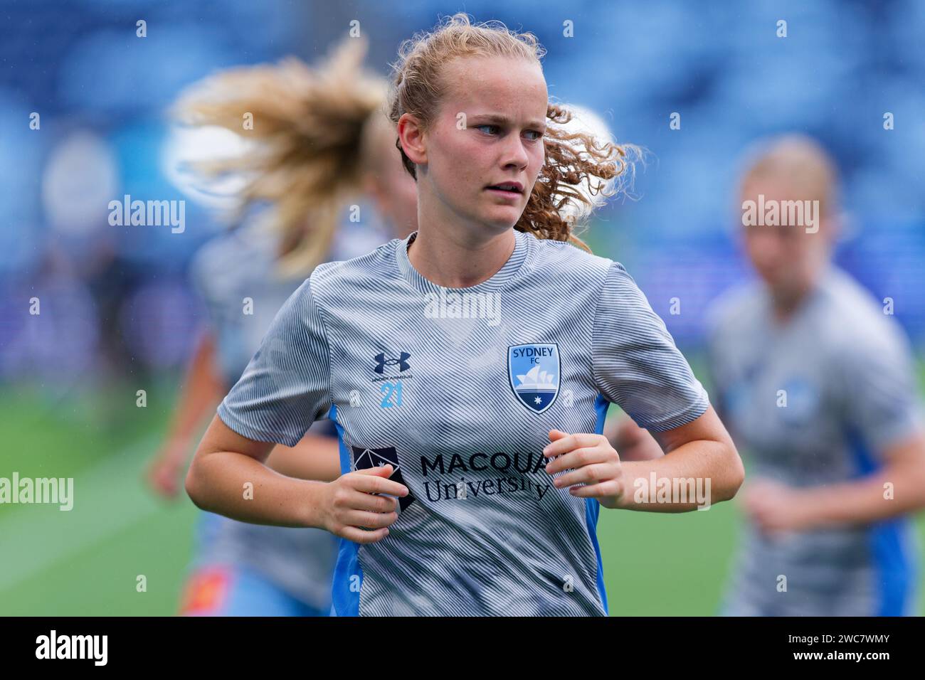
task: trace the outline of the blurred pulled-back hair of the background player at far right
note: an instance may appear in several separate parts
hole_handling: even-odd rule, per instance
[[[820,215],[838,205],[838,169],[832,156],[808,135],[772,137],[748,155],[741,188],[757,179],[781,179],[799,197],[819,201]]]

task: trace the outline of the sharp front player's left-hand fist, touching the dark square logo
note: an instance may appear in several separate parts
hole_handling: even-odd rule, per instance
[[[408,488],[388,479],[391,465],[370,467],[328,482],[322,502],[322,527],[354,543],[375,543],[388,536],[398,519],[398,500]],[[388,496],[376,495],[388,494]]]

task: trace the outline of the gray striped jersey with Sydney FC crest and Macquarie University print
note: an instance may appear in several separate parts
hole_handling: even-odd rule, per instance
[[[598,501],[555,488],[549,429],[597,432],[608,402],[664,430],[709,406],[619,263],[515,232],[486,281],[447,289],[414,234],[319,266],[219,407],[292,444],[330,409],[341,467],[410,489],[388,537],[341,541],[338,615],[604,615]]]

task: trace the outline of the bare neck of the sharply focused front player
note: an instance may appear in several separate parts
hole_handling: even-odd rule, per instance
[[[445,288],[470,288],[487,281],[511,258],[517,239],[513,229],[499,234],[444,227],[445,222],[420,220],[425,227],[408,247],[418,274]]]

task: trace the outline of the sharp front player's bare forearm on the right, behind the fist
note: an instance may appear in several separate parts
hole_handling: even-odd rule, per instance
[[[744,471],[734,448],[700,439],[667,455],[623,463],[619,507],[649,513],[686,513],[732,499]]]

